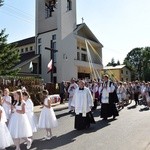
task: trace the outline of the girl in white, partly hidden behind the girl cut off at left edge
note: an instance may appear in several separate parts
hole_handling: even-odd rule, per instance
[[[11,99],[11,96],[9,96],[9,89],[6,88],[4,89],[2,106],[5,110],[7,120],[9,120],[10,114],[11,114],[11,102],[12,102],[12,99]]]

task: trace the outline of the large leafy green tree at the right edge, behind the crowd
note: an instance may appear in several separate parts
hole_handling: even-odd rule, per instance
[[[124,64],[131,69],[132,80],[149,80],[149,60],[150,47],[134,48],[127,54]]]

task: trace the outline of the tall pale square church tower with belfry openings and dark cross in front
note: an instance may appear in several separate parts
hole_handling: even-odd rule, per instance
[[[65,74],[68,65],[73,63],[72,55],[76,55],[72,52],[77,48],[73,34],[75,28],[76,0],[36,0],[36,53],[41,54],[40,70],[45,82],[71,78]],[[53,69],[47,74],[47,64],[51,59]]]

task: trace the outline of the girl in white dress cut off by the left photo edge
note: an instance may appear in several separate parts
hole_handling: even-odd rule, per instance
[[[2,105],[2,97],[0,96],[0,149],[5,149],[13,145],[13,140],[6,126],[6,115]]]

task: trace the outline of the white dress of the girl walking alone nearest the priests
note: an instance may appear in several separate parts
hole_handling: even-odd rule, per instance
[[[48,105],[49,100],[50,99],[45,98],[44,104]],[[55,116],[53,108],[52,107],[47,108],[44,106],[41,110],[38,127],[46,129],[46,128],[54,128],[57,126],[58,126],[58,121],[57,121],[57,118]]]

